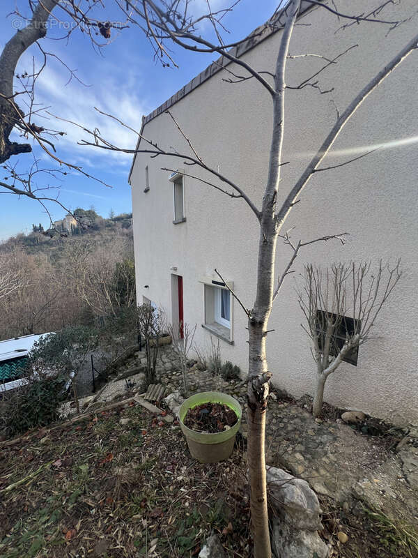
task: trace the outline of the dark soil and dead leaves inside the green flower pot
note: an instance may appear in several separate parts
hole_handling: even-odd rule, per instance
[[[233,409],[223,403],[202,403],[187,411],[185,425],[196,432],[215,434],[229,430],[238,421]]]

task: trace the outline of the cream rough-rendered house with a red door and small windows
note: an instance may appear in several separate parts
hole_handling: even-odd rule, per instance
[[[350,13],[367,13],[375,3],[355,0]],[[306,167],[336,119],[385,63],[416,33],[416,18],[387,34],[375,23],[339,29],[323,9],[306,9],[291,40],[290,53],[341,56],[318,76],[313,87],[286,91],[283,178],[279,201]],[[370,9],[369,9],[370,8]],[[348,10],[348,6],[346,7]],[[384,13],[406,19],[415,0],[387,6]],[[339,29],[339,31],[337,31]],[[250,36],[238,54],[257,70],[274,71],[281,30]],[[358,46],[354,46],[358,45]],[[325,65],[318,57],[288,60],[286,82],[300,84]],[[295,285],[304,264],[381,257],[402,259],[403,277],[383,308],[370,340],[359,348],[357,368],[343,363],[330,377],[325,400],[361,409],[394,423],[418,421],[418,53],[412,53],[374,91],[346,124],[324,166],[381,146],[350,165],[314,175],[293,208],[286,229],[296,241],[348,232],[346,246],[314,244],[295,261],[274,303],[268,335],[268,364],[273,383],[295,396],[314,393],[315,366]],[[229,65],[234,70],[233,65]],[[235,68],[236,69],[236,68]],[[238,68],[238,74],[242,69]],[[231,176],[261,206],[272,130],[271,100],[256,80],[230,84],[231,77],[212,64],[143,121],[142,134],[169,149],[190,153],[169,109],[196,151],[211,167]],[[145,149],[141,140],[139,149]],[[217,268],[245,305],[254,303],[258,222],[242,199],[192,179],[209,176],[181,159],[138,153],[130,172],[138,301],[162,306],[169,319],[198,324],[195,342],[221,339],[222,358],[247,370],[247,316],[215,273]],[[219,183],[222,186],[222,183]],[[277,273],[291,255],[278,243]]]

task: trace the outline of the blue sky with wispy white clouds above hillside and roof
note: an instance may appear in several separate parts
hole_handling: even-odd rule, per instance
[[[27,0],[1,2],[1,48],[15,32],[13,26],[17,25],[16,17],[8,14],[15,9],[16,4],[23,15],[30,17]],[[229,2],[224,0],[212,1],[212,5],[217,8],[228,4]],[[111,0],[107,1],[107,6],[111,6]],[[204,0],[194,0],[196,13],[204,6]],[[228,15],[224,20],[226,27],[231,31],[227,40],[246,36],[270,17],[275,6],[277,2],[274,0],[242,0],[233,15]],[[58,11],[56,15],[59,15]],[[113,10],[107,12],[107,19],[118,21],[121,18],[116,10]],[[153,60],[153,50],[137,27],[112,32],[110,43],[101,52],[95,52],[90,40],[78,30],[72,34],[68,42],[56,40],[62,35],[63,31],[57,26],[49,29],[47,38],[42,40],[42,48],[54,52],[69,68],[77,70],[77,77],[85,85],[74,78],[67,83],[70,78],[68,70],[65,70],[59,61],[50,58],[47,68],[37,82],[36,100],[49,107],[49,112],[84,124],[90,129],[97,127],[104,137],[109,137],[115,144],[126,147],[134,146],[136,136],[97,114],[93,107],[110,112],[139,130],[143,114],[148,114],[163,103],[216,59],[214,54],[176,50],[174,56],[179,68],[162,68],[160,63]],[[36,46],[31,47],[31,50],[22,56],[17,73],[24,70],[30,72],[33,57],[36,62],[40,61],[40,51]],[[16,89],[18,85],[16,84]],[[70,163],[81,165],[85,172],[112,186],[107,188],[77,172],[69,172],[67,176],[63,176],[60,189],[50,190],[49,194],[54,197],[58,194],[59,200],[70,209],[77,206],[94,206],[104,217],[108,216],[110,209],[114,209],[116,213],[131,211],[130,186],[127,184],[131,156],[77,145],[84,133],[68,123],[47,122],[42,117],[33,121],[39,126],[65,131],[67,134],[56,142],[57,155]],[[35,147],[33,156],[40,158],[40,165],[45,168],[54,167],[40,148]],[[17,164],[17,169],[24,171],[33,162],[33,156],[25,154],[14,157],[10,159],[10,163]],[[56,184],[57,181],[44,181],[42,186]],[[62,218],[64,213],[56,204],[49,204],[49,210],[54,219]],[[49,223],[45,210],[38,202],[26,198],[19,199],[15,195],[0,196],[0,240],[17,232],[29,232],[32,223],[42,223],[44,226]]]

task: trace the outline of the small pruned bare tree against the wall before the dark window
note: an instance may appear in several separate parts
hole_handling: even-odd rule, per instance
[[[327,377],[343,361],[357,363],[359,345],[371,338],[376,317],[401,278],[399,264],[391,268],[380,260],[376,271],[371,262],[332,264],[325,270],[305,266],[299,303],[316,362],[314,416],[321,413]]]

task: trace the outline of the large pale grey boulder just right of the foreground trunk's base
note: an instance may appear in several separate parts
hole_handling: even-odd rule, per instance
[[[307,481],[295,478],[283,469],[270,467],[267,482],[272,506],[281,520],[295,529],[317,531],[323,528],[318,498]]]

